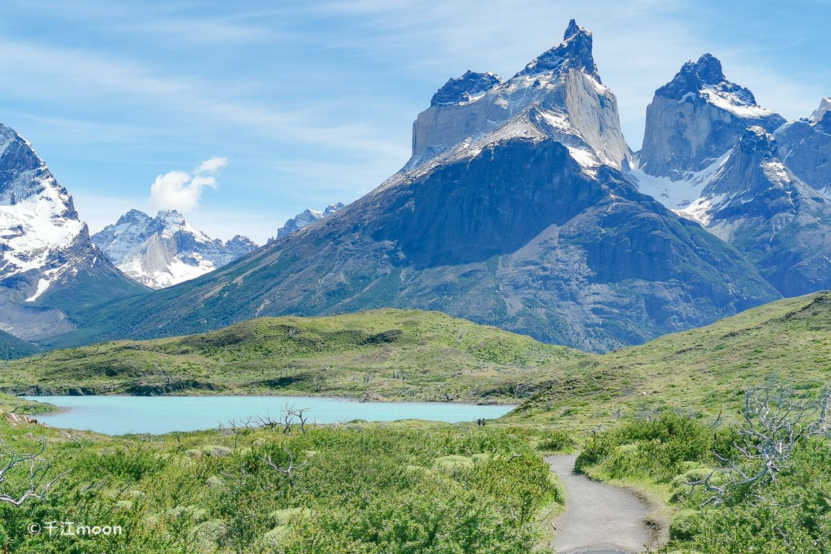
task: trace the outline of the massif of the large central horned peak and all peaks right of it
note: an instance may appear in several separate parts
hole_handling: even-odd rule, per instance
[[[416,118],[411,159],[370,194],[298,214],[200,277],[85,306],[71,318],[81,328],[43,342],[374,307],[445,311],[585,351],[706,325],[831,288],[829,113],[824,101],[786,123],[707,54],[657,89],[632,152],[592,33],[571,21],[508,79],[447,81]]]

